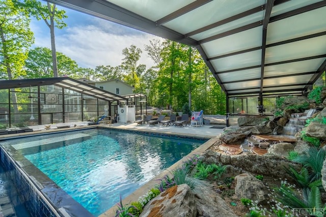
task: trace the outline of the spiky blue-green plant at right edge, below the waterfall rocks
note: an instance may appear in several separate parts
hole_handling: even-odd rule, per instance
[[[326,150],[316,147],[310,147],[309,151],[304,152],[294,162],[303,164],[309,171],[311,171],[311,181],[315,181],[321,178],[321,168],[326,157]]]

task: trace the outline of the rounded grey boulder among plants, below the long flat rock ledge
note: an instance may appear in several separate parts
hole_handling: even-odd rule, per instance
[[[268,199],[268,190],[263,182],[250,173],[235,176],[235,197],[248,198],[258,203]]]

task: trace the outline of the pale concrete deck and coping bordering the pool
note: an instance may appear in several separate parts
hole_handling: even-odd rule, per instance
[[[137,125],[137,123],[113,123],[112,125],[93,125],[93,126],[83,126],[83,127],[76,127],[76,128],[64,128],[64,129],[51,129],[51,130],[42,130],[36,132],[27,132],[27,133],[17,133],[11,135],[0,135],[1,139],[6,139],[10,137],[20,137],[20,136],[31,136],[35,134],[42,134],[42,133],[55,133],[55,132],[62,132],[67,130],[77,130],[77,129],[86,129],[86,128],[108,128],[108,129],[120,129],[120,130],[128,130],[128,131],[137,131],[137,132],[146,132],[146,133],[158,133],[158,134],[168,134],[168,135],[176,135],[176,136],[185,136],[185,137],[197,137],[197,138],[206,138],[209,139],[203,145],[199,146],[191,153],[187,154],[187,156],[183,157],[180,161],[172,165],[171,167],[167,168],[166,170],[162,171],[160,174],[155,176],[149,182],[144,184],[138,190],[134,191],[131,195],[127,198],[122,200],[123,204],[130,204],[132,201],[138,201],[139,197],[146,194],[149,190],[155,187],[155,184],[158,184],[157,179],[161,179],[166,175],[170,175],[170,171],[180,167],[184,161],[192,157],[194,154],[202,154],[206,151],[211,145],[215,143],[217,140],[217,136],[219,136],[223,132],[223,126],[216,126],[216,125],[204,125],[199,127],[194,126],[184,126],[184,127],[175,127],[175,126],[149,126],[148,124],[144,125]],[[212,128],[215,127],[215,128]],[[216,128],[218,127],[218,128]],[[99,217],[112,217],[115,216],[115,211],[117,210],[117,206],[108,209]]]

